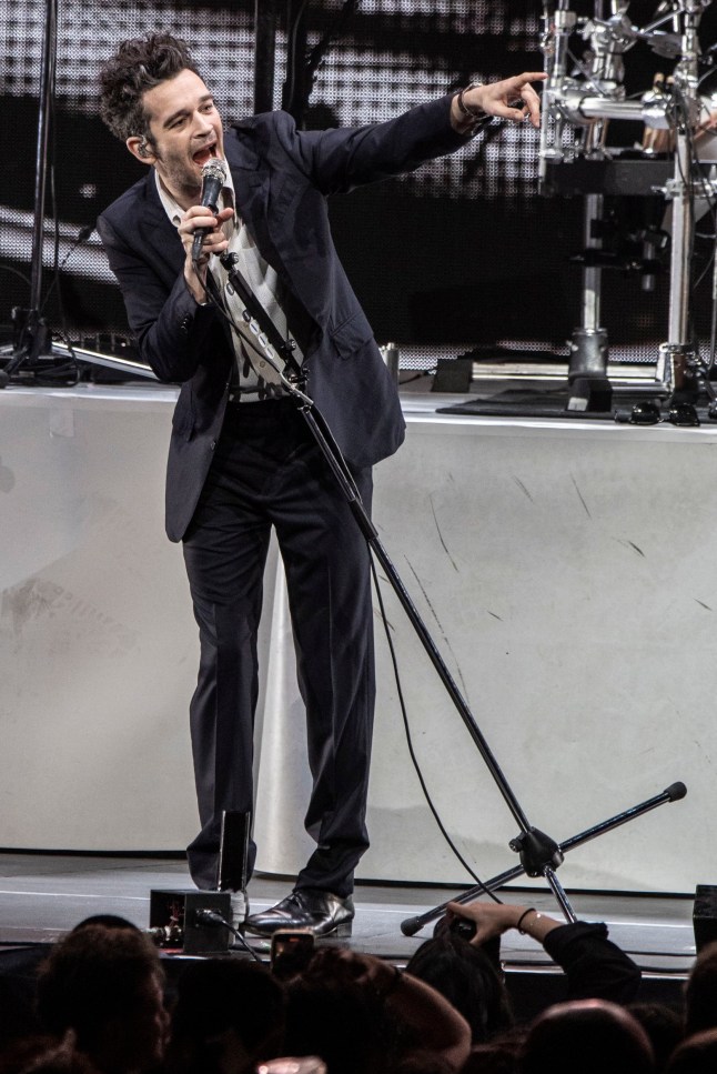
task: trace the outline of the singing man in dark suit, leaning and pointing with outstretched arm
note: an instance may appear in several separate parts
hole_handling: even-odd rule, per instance
[[[529,117],[537,127],[529,83],[542,78],[474,84],[356,129],[299,131],[289,114],[271,112],[224,131],[183,41],[124,41],[102,68],[102,118],[148,169],[100,217],[100,235],[142,359],[182,385],[166,532],[183,544],[201,644],[190,721],[202,826],[188,847],[199,887],[216,886],[223,812],[252,809],[256,632],[272,526],[286,573],[313,777],[305,824],[316,850],[294,891],[248,919],[262,935],[351,932],[353,873],[368,845],[370,553],[219,255],[236,255],[281,337],[295,341],[303,391],[370,510],[371,466],[398,448],[404,423],[334,250],[326,198],[460,149],[485,116]],[[228,165],[216,213],[200,204],[211,158]],[[206,233],[193,258],[198,229]],[[251,844],[250,873],[254,857]]]

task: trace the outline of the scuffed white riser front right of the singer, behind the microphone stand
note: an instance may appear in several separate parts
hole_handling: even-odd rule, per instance
[[[711,428],[414,414],[404,448],[376,470],[381,539],[529,822],[562,841],[687,784],[683,802],[574,850],[559,873],[567,886],[691,892],[717,872],[705,839],[716,452]],[[517,864],[517,823],[383,589],[434,802],[478,874],[501,874]],[[377,619],[376,638],[372,847],[358,876],[465,883],[408,760]],[[284,710],[294,703],[290,690]],[[303,727],[287,721],[284,733],[299,745]],[[273,805],[283,823],[259,863],[286,872],[305,853],[306,780],[271,793],[284,797]]]

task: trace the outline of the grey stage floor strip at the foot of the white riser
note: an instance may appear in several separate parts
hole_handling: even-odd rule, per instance
[[[119,914],[147,929],[150,891],[191,886],[183,862],[165,857],[0,853],[0,952],[51,944],[82,919],[99,913]],[[289,881],[254,877],[249,891],[251,910],[272,905],[289,889]],[[407,937],[401,932],[401,922],[452,894],[442,887],[360,885],[353,935],[342,942],[405,965],[433,926]],[[547,889],[513,889],[501,897],[561,916]],[[679,1004],[695,957],[691,897],[604,892],[569,893],[569,897],[578,917],[605,921],[610,937],[640,966],[640,998]],[[267,957],[265,941],[248,939]],[[561,972],[529,937],[507,933],[502,960],[514,1005],[526,1016],[561,998]]]

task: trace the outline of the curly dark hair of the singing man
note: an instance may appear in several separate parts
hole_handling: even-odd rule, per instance
[[[143,94],[182,71],[199,74],[189,47],[171,33],[148,33],[122,41],[100,69],[100,116],[122,141],[150,138]]]

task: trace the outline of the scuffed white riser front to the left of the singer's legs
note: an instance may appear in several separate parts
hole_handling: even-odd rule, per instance
[[[173,850],[194,832],[196,631],[163,530],[173,402],[0,397],[0,845]]]

